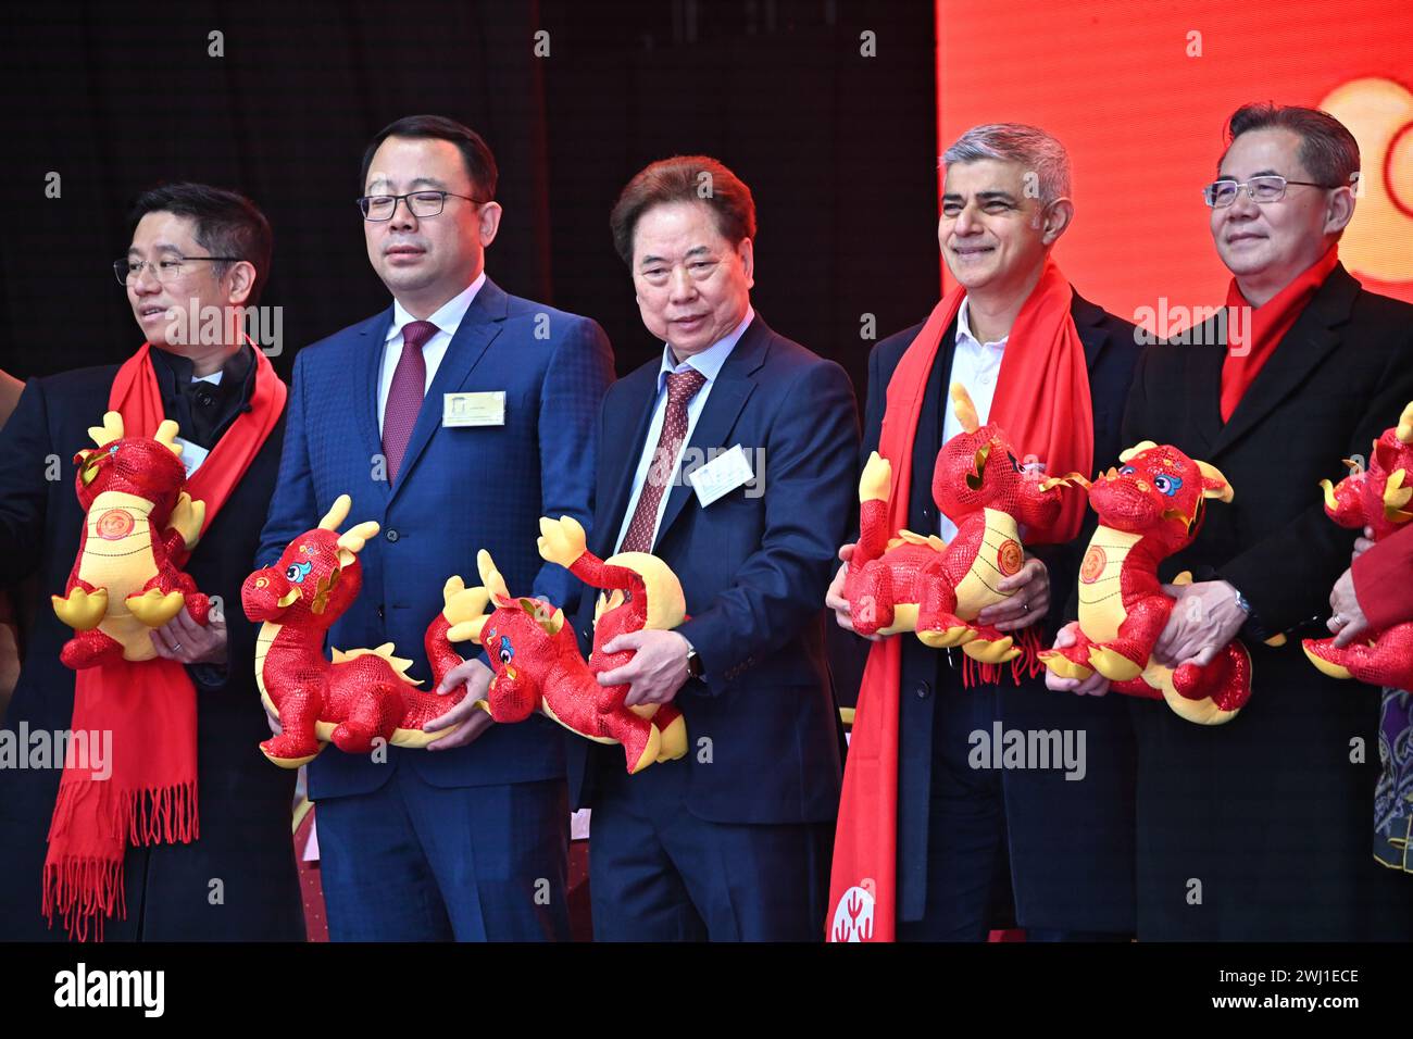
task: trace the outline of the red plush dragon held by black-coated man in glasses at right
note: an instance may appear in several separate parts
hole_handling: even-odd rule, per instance
[[[1080,564],[1080,632],[1067,649],[1046,650],[1044,664],[1065,679],[1098,671],[1118,693],[1166,700],[1187,721],[1217,725],[1251,698],[1251,656],[1236,639],[1207,666],[1170,669],[1152,659],[1176,602],[1157,578],[1159,564],[1197,537],[1205,502],[1232,500],[1214,466],[1174,447],[1145,440],[1119,455],[1092,483],[1099,526]],[[1188,584],[1181,574],[1176,584]]]

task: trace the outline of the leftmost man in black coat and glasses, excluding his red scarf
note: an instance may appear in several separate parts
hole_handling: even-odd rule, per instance
[[[259,298],[270,226],[247,199],[198,184],[144,194],[133,225],[133,246],[116,270],[153,346],[162,410],[178,423],[191,471],[250,411],[257,376],[267,390],[274,379],[233,310]],[[222,315],[219,336],[201,334],[216,325],[194,303]],[[64,594],[79,551],[85,516],[72,459],[93,447],[89,427],[102,425],[117,370],[106,365],[31,379],[0,438],[0,584],[38,573],[45,597],[0,729],[25,759],[25,768],[0,769],[0,940],[65,936],[58,920],[51,930],[41,915],[62,761],[45,763],[27,749],[37,746],[37,734],[69,729],[73,717],[75,673],[59,662],[72,630],[47,597]],[[150,636],[157,654],[184,664],[195,687],[199,837],[127,848],[126,917],[103,922],[106,940],[304,939],[290,834],[295,773],[273,768],[257,749],[268,729],[252,666],[256,629],[240,608],[283,428],[281,414],[184,567],[213,598],[211,623],[202,628],[184,611]]]

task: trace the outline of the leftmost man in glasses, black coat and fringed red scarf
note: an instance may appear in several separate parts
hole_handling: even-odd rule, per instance
[[[31,379],[0,441],[0,584],[38,573],[44,595],[7,741],[112,734],[105,762],[89,752],[61,769],[61,752],[49,768],[0,769],[0,939],[302,940],[294,775],[252,753],[264,722],[252,715],[256,629],[240,611],[287,394],[243,331],[270,274],[270,225],[249,199],[203,184],[146,192],[131,222],[113,270],[146,342],[123,365]],[[48,602],[64,594],[85,524],[71,459],[110,410],[129,437],[177,421],[187,491],[205,502],[184,568],[211,614],[194,602],[154,625],[143,662],[113,646],[65,650],[73,630]],[[130,523],[119,502],[93,519],[88,544],[117,544]],[[130,833],[146,843],[130,845]],[[47,929],[41,909],[59,926]]]

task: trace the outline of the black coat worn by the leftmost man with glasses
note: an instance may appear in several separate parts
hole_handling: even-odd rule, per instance
[[[66,729],[72,721],[73,671],[59,663],[72,630],[54,615],[48,597],[64,592],[79,548],[83,512],[73,493],[73,454],[93,445],[88,427],[102,423],[116,372],[116,366],[88,368],[31,379],[0,433],[0,584],[37,573],[42,598],[6,714],[8,729],[21,722],[31,732]],[[201,591],[220,597],[230,639],[225,683],[196,684],[201,840],[153,845],[150,861],[146,851],[129,850],[127,919],[105,924],[109,940],[304,937],[290,835],[295,773],[274,768],[259,751],[270,729],[254,684],[256,626],[240,606],[240,584],[274,492],[283,433],[281,417],[187,564]],[[59,769],[0,769],[0,937],[64,937],[62,927],[47,932],[40,916],[45,834],[59,775]],[[212,905],[215,878],[222,881],[223,902]]]

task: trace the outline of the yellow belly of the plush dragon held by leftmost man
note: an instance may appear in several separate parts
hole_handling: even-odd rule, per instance
[[[127,609],[127,597],[143,591],[157,574],[151,526],[153,503],[122,491],[105,491],[93,499],[85,523],[88,539],[79,560],[79,577],[95,588],[107,588],[107,614],[97,629],[123,645],[124,660],[157,656],[151,630]]]

